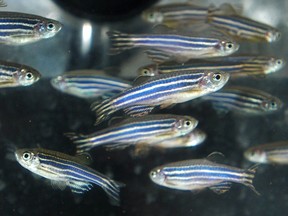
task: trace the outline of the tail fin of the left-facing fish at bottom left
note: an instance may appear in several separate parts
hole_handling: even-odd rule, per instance
[[[124,183],[109,180],[109,183],[107,183],[107,185],[102,187],[104,191],[107,193],[110,203],[112,205],[115,206],[120,205],[120,188],[124,186],[125,186]]]

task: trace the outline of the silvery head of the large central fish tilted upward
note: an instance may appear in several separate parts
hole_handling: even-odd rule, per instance
[[[224,71],[206,71],[200,82],[202,89],[208,93],[221,89],[229,80],[230,74]]]

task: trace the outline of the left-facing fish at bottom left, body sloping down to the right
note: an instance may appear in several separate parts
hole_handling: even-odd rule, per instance
[[[22,167],[50,180],[53,186],[62,190],[67,186],[73,193],[82,194],[98,185],[107,193],[111,204],[119,205],[120,187],[124,184],[88,167],[83,157],[42,148],[17,149],[15,157]]]

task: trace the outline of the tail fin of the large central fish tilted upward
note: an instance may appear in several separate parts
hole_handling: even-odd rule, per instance
[[[91,110],[96,112],[96,122],[95,125],[98,125],[102,121],[108,119],[109,115],[113,114],[116,110],[112,105],[111,98],[107,98],[100,103],[98,101],[96,103],[91,104]]]

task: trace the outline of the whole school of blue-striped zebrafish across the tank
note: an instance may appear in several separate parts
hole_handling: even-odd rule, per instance
[[[1,7],[5,4],[1,1]],[[191,148],[205,142],[207,134],[193,116],[161,114],[162,109],[181,103],[208,103],[218,112],[263,116],[279,111],[283,102],[264,89],[229,84],[230,79],[265,77],[281,70],[285,60],[277,56],[237,55],[242,41],[274,43],[281,38],[275,27],[242,16],[228,3],[218,7],[192,3],[157,5],[141,18],[151,23],[146,33],[107,32],[112,55],[129,49],[144,49],[151,64],[139,65],[135,80],[109,75],[105,70],[83,69],[65,72],[51,79],[58,91],[86,100],[95,112],[95,124],[109,119],[107,126],[90,134],[67,132],[76,155],[43,148],[16,149],[19,164],[51,181],[60,189],[84,193],[94,185],[102,188],[111,204],[120,205],[124,183],[90,167],[87,152],[109,150]],[[0,12],[0,45],[29,46],[57,36],[59,21],[20,12]],[[234,54],[233,56],[230,56]],[[30,86],[41,78],[27,65],[0,61],[0,88]],[[204,122],[205,123],[205,122]],[[91,128],[93,126],[91,125]],[[159,164],[147,173],[151,182],[170,189],[217,194],[229,191],[232,183],[242,184],[257,195],[253,185],[260,163],[288,164],[288,141],[253,146],[244,157],[257,163],[239,168],[218,163],[211,153],[202,158]],[[97,157],[96,157],[97,158]],[[129,187],[129,185],[126,185]],[[140,185],[141,186],[141,185]],[[171,191],[173,193],[173,191]]]

